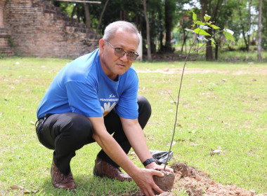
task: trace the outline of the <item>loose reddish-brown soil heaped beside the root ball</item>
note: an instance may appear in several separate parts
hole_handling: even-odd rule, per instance
[[[184,163],[176,164],[172,168],[175,173],[172,192],[174,190],[185,190],[189,196],[267,196],[267,193],[256,195],[254,190],[245,190],[235,185],[223,186],[221,183],[209,179],[204,172]],[[174,193],[165,192],[159,196],[167,195],[174,196]],[[140,191],[132,196],[143,196],[143,193]]]

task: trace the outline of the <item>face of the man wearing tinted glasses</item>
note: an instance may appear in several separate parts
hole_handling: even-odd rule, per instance
[[[136,52],[138,47],[138,36],[129,31],[119,29],[115,35],[108,40],[115,48],[122,48],[126,52]],[[133,63],[127,54],[117,57],[114,48],[105,40],[99,41],[100,63],[103,71],[111,80],[116,80],[118,75],[125,73]]]

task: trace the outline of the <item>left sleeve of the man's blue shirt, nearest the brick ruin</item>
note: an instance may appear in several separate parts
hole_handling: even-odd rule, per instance
[[[96,85],[79,81],[69,81],[66,83],[66,89],[72,112],[81,113],[87,117],[103,116]]]

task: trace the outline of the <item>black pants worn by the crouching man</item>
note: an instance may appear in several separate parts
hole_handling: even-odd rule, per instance
[[[151,106],[145,97],[138,96],[138,122],[142,129],[148,123],[151,115]],[[104,117],[105,127],[127,154],[131,145],[124,134],[122,123],[114,110]],[[86,144],[94,142],[93,128],[89,118],[79,113],[59,113],[39,119],[37,137],[46,148],[54,150],[53,161],[60,172],[70,173],[70,160],[75,156],[75,151]],[[119,167],[108,155],[101,150],[98,157]]]

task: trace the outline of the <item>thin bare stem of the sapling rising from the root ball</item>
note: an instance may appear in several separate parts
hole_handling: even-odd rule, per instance
[[[185,62],[183,64],[183,72],[185,71],[185,64],[186,64],[186,61],[188,59],[188,56],[190,55],[190,52],[191,52],[191,49],[193,48],[193,45],[195,44],[195,40],[197,38],[194,39],[193,43],[190,45],[190,49],[189,49],[189,52],[188,54],[186,55],[185,57]],[[171,146],[172,146],[172,143],[174,142],[174,134],[175,134],[175,130],[176,130],[176,123],[177,123],[177,116],[178,116],[178,105],[179,105],[179,99],[180,99],[180,92],[181,92],[181,87],[182,87],[182,83],[183,83],[183,72],[182,72],[182,75],[181,75],[181,82],[180,82],[180,87],[179,87],[179,92],[178,92],[178,97],[177,97],[177,104],[176,104],[176,117],[175,117],[175,121],[174,121],[174,132],[172,134],[172,139],[171,139],[171,144],[169,146],[169,153],[171,153]],[[169,160],[169,153],[168,153],[168,156],[167,156],[167,160],[165,162],[165,165],[164,165],[164,171],[166,169],[166,166],[167,166],[167,162]]]

